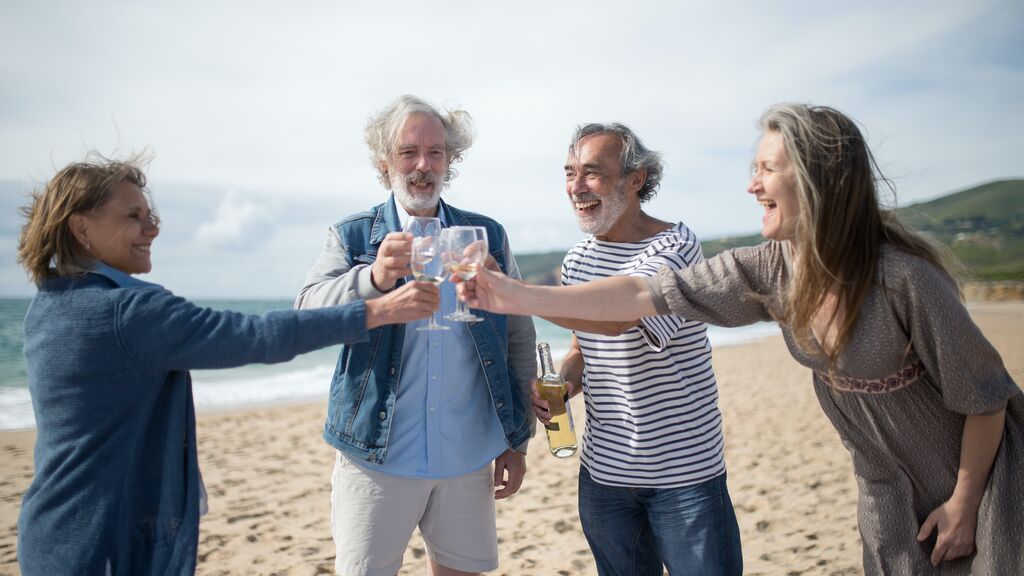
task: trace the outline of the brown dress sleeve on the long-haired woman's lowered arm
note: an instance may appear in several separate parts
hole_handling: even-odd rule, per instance
[[[999,354],[961,302],[952,279],[907,254],[890,252],[884,266],[893,310],[946,408],[983,414],[1020,394]]]

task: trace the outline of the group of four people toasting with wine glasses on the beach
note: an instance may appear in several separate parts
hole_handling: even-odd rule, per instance
[[[1024,397],[941,251],[879,206],[842,114],[766,112],[749,192],[769,242],[707,261],[686,225],[641,207],[659,155],[625,126],[580,127],[566,193],[590,236],[562,288],[516,282],[501,224],[440,199],[472,140],[465,112],[402,96],[366,136],[391,196],[329,229],[295,312],[213,312],[132,278],[159,221],[130,162],[70,165],[34,196],[18,246],[39,287],[23,573],[193,573],[206,504],[187,371],[338,342],[324,429],[337,572],[396,574],[416,527],[429,573],[497,568],[495,499],[519,489],[535,414],[550,416],[527,315],[573,330],[561,372],[586,397],[580,518],[600,574],[741,573],[703,322],[764,320],[851,451],[865,572],[1024,572]],[[459,288],[482,322],[415,329],[457,296],[408,278],[410,216],[485,230],[495,272]]]

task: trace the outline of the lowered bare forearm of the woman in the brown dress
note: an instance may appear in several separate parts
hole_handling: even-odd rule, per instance
[[[988,472],[1002,440],[1006,408],[993,414],[972,414],[964,422],[959,471],[953,498],[977,506],[988,482]]]

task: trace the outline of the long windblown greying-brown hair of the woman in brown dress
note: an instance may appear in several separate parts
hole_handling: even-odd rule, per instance
[[[824,351],[835,364],[876,282],[883,245],[924,258],[950,278],[957,264],[947,249],[880,206],[879,182],[894,194],[895,188],[882,175],[853,120],[827,107],[780,104],[764,112],[759,127],[762,133],[782,135],[800,202],[795,280],[779,321],[806,347],[813,340],[811,320],[828,291],[837,289],[829,325],[838,318],[842,323],[835,345]]]

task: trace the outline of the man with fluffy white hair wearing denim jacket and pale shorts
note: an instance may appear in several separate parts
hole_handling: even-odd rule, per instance
[[[412,235],[401,231],[411,216],[482,227],[494,262],[518,277],[501,224],[440,199],[456,175],[452,164],[472,143],[469,114],[401,96],[371,118],[366,139],[392,194],[328,230],[296,307],[376,298],[407,282]],[[441,287],[441,305],[455,305],[451,284]],[[495,500],[514,494],[526,471],[536,334],[529,318],[476,314],[482,322],[388,326],[342,347],[324,429],[337,450],[331,530],[339,574],[393,576],[417,526],[430,574],[498,567]]]

